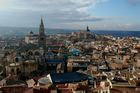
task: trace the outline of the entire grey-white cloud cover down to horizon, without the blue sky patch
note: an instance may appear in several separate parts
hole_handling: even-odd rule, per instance
[[[0,0],[0,25],[38,27],[40,17],[46,28],[140,29],[136,24],[122,24],[118,17],[94,15],[96,5],[109,0]],[[140,0],[126,0],[137,5]],[[91,10],[92,9],[92,13]],[[124,19],[122,19],[124,20]],[[123,22],[124,23],[124,22]]]

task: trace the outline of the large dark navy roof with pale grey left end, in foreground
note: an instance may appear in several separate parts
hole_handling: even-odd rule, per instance
[[[87,81],[88,76],[79,72],[69,73],[51,73],[46,77],[39,79],[40,84],[66,84],[66,83],[77,83]]]

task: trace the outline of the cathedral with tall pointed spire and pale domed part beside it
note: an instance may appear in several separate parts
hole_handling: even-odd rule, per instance
[[[25,43],[27,44],[38,44],[39,46],[46,46],[46,35],[45,35],[45,28],[44,23],[41,18],[41,23],[39,27],[39,34],[34,34],[32,31],[29,35],[25,36]]]

